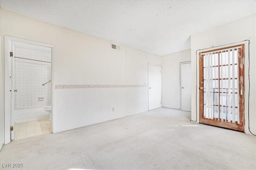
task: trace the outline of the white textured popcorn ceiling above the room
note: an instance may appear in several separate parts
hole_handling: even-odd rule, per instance
[[[1,8],[147,51],[190,49],[190,35],[256,13],[256,0],[0,0]]]

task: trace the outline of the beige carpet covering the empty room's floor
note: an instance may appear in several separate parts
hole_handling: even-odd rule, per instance
[[[256,137],[190,123],[160,108],[55,134],[12,141],[0,169],[256,169]]]

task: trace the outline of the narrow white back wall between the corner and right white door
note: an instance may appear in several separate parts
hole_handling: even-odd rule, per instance
[[[162,56],[162,107],[180,109],[180,63],[186,61],[190,50]]]

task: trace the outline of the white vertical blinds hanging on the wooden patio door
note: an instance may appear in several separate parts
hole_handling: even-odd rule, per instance
[[[239,49],[203,53],[204,118],[239,124]]]

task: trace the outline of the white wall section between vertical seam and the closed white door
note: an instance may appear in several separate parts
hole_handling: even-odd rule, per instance
[[[146,64],[145,64],[146,62]],[[161,64],[161,58],[127,47],[126,84],[148,84],[148,63]],[[127,115],[148,111],[148,88],[127,89]]]

